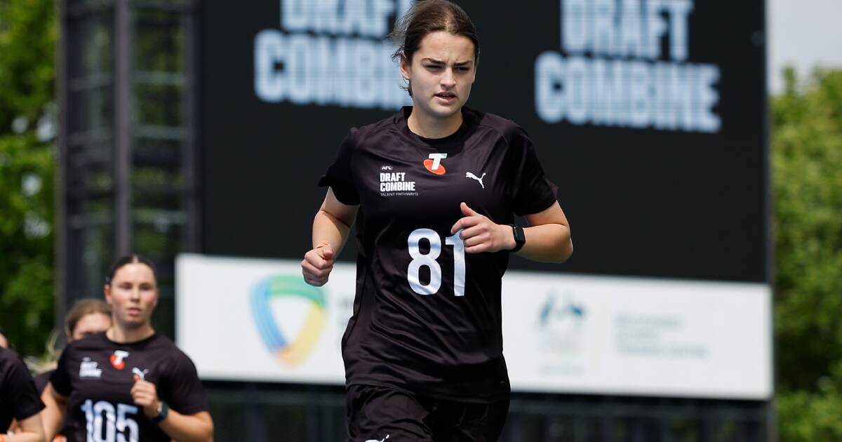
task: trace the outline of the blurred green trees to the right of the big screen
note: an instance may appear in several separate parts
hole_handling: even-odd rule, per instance
[[[842,440],[842,71],[772,99],[775,355],[783,441]]]

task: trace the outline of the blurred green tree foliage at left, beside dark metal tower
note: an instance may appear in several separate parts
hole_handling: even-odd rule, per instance
[[[53,325],[54,0],[0,0],[0,326],[41,354]]]

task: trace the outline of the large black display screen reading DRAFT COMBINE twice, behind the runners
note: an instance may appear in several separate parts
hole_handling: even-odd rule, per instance
[[[411,3],[201,3],[203,253],[310,248],[340,141],[410,103],[386,35]],[[762,0],[456,3],[467,105],[525,128],[572,226],[568,263],[511,268],[768,280]]]

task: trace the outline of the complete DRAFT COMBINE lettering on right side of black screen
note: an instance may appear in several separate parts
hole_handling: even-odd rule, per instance
[[[535,64],[541,120],[720,130],[720,69],[686,62],[695,0],[559,2],[562,52],[542,52]]]

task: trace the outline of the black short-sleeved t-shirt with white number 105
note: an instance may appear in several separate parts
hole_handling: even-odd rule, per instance
[[[158,398],[179,413],[208,409],[193,362],[168,338],[115,343],[97,333],[69,343],[50,380],[68,397],[67,440],[169,441],[132,401],[135,375],[155,384]]]

